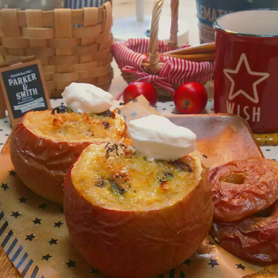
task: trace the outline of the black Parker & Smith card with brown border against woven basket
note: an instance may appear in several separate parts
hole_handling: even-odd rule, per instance
[[[47,109],[43,83],[37,64],[2,72],[7,96],[14,119],[30,110]]]

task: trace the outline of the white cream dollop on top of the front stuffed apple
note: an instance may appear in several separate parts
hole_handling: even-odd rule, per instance
[[[176,160],[196,148],[195,133],[162,116],[150,115],[130,121],[127,134],[136,151],[149,160]]]

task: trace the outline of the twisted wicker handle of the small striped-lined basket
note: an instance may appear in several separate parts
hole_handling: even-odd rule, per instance
[[[149,69],[154,74],[157,74],[160,71],[160,58],[158,55],[158,22],[163,2],[164,0],[155,1],[151,19]],[[179,0],[171,0],[171,31],[168,46],[176,46],[178,42],[178,8]]]

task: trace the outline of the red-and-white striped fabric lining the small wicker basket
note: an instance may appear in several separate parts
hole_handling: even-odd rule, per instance
[[[189,46],[183,45],[179,48]],[[168,47],[164,41],[158,41],[159,53],[173,49],[175,48]],[[158,75],[146,73],[141,65],[144,60],[148,61],[149,57],[142,53],[149,53],[149,39],[129,39],[116,42],[112,45],[112,53],[123,72],[129,72],[138,78],[138,81],[148,81],[162,89],[166,89],[172,95],[175,90],[171,84],[182,85],[189,81],[204,83],[211,80],[213,76],[212,62],[191,62],[163,55],[160,55],[160,60],[164,65]]]

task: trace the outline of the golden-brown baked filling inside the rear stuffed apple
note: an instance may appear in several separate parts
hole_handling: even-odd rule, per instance
[[[67,142],[120,139],[125,129],[122,116],[112,112],[97,115],[33,111],[25,115],[24,124],[41,138]]]

